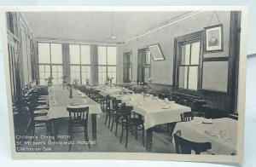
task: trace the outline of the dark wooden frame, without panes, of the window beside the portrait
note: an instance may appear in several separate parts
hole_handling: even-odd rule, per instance
[[[190,65],[191,61],[191,43],[200,42],[200,55],[199,55],[199,63],[198,65]],[[179,88],[179,66],[187,66],[187,65],[179,65],[181,60],[181,46],[184,45],[184,43],[190,43],[190,52],[189,52],[189,66],[198,66],[198,74],[197,74],[197,89],[189,89],[189,85],[187,85],[188,89]],[[192,32],[190,34],[181,36],[181,37],[175,37],[174,38],[174,53],[173,53],[173,76],[172,76],[172,88],[173,90],[188,93],[192,95],[197,95],[197,92],[201,90],[202,85],[202,59],[203,59],[203,31],[200,32]],[[189,70],[188,70],[189,72]],[[189,81],[187,81],[189,82]]]

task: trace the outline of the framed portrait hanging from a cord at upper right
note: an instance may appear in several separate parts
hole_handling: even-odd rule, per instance
[[[223,25],[205,27],[205,52],[223,51]]]

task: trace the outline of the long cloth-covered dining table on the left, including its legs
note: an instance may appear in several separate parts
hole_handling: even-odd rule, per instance
[[[69,89],[62,89],[61,86],[50,87],[50,89],[50,94],[54,94],[56,98],[55,102],[49,98],[49,112],[47,114],[48,120],[54,124],[54,121],[57,118],[69,118],[67,106],[70,106],[73,103],[76,103],[80,107],[89,107],[89,114],[91,115],[92,140],[96,141],[96,118],[97,115],[102,113],[101,106],[86,95],[81,97],[79,90],[73,89],[73,98],[70,98]],[[54,130],[54,135],[56,135],[56,130]]]

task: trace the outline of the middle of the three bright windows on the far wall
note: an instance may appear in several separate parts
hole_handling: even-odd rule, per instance
[[[69,44],[71,82],[90,83],[90,46]]]

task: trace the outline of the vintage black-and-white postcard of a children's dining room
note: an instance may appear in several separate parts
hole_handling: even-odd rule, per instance
[[[241,162],[246,7],[2,7],[14,158]]]

